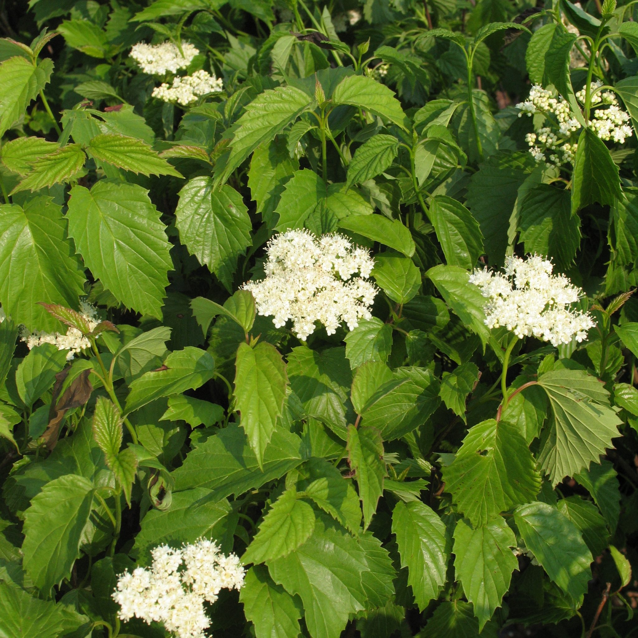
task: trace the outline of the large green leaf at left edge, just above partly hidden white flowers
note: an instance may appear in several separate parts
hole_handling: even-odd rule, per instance
[[[0,303],[13,322],[29,330],[59,328],[38,302],[77,305],[85,278],[73,253],[51,198],[31,198],[24,208],[0,206]]]

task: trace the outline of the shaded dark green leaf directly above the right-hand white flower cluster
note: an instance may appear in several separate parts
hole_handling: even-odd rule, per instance
[[[520,226],[526,253],[553,257],[560,268],[574,263],[581,219],[572,213],[570,191],[538,184],[523,200]]]

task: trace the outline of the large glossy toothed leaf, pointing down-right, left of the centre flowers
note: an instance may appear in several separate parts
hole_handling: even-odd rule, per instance
[[[148,191],[108,180],[90,191],[74,186],[67,218],[69,235],[94,276],[126,308],[161,319],[171,244]]]

